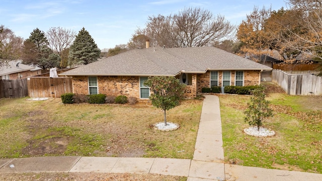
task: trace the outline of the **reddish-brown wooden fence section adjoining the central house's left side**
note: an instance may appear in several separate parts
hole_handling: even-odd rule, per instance
[[[72,93],[69,77],[28,77],[28,95],[33,98],[60,98],[62,94]]]

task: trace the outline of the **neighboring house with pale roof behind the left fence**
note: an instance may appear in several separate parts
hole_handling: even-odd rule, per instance
[[[41,74],[42,68],[33,67],[21,63],[21,60],[13,60],[8,65],[0,67],[0,79],[15,80],[23,79],[28,76]]]

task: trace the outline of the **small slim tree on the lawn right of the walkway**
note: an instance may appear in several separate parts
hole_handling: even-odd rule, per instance
[[[260,86],[251,92],[251,103],[245,111],[245,122],[250,126],[257,126],[258,131],[263,125],[263,120],[273,116],[273,111],[269,108],[269,101],[265,100],[265,87]]]

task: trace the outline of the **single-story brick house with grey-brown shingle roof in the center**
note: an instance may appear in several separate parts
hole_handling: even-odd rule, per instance
[[[271,67],[215,47],[133,49],[60,73],[72,77],[75,94],[124,95],[148,99],[148,76],[175,76],[187,84],[185,96],[202,87],[258,85],[261,71]]]

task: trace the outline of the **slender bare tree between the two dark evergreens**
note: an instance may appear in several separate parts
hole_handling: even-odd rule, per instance
[[[51,27],[46,33],[50,48],[57,52],[61,58],[61,68],[65,68],[68,64],[66,57],[63,55],[65,54],[64,51],[72,44],[75,35],[76,32],[60,27]]]

